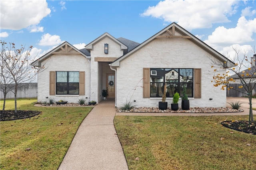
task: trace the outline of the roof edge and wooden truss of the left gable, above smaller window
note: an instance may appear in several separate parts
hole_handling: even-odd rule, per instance
[[[64,42],[64,43],[60,44],[58,47],[52,49],[50,52],[48,52],[45,55],[43,55],[42,57],[40,57],[39,59],[37,59],[36,61],[34,61],[33,63],[31,63],[31,65],[40,67],[41,61],[48,59],[49,57],[51,57],[54,54],[71,54],[71,55],[72,54],[81,54],[86,58],[90,58],[85,53],[78,50],[76,47],[74,47],[70,43]]]

